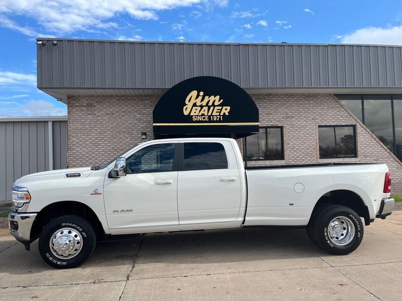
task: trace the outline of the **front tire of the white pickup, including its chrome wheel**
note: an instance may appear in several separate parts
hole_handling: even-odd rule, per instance
[[[39,253],[56,268],[72,268],[92,254],[96,234],[92,225],[77,215],[60,216],[46,225],[39,237]]]

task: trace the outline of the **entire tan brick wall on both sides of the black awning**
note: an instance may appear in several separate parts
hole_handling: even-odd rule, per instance
[[[251,95],[260,111],[261,126],[283,126],[284,160],[252,165],[324,162],[385,163],[393,192],[402,192],[402,166],[391,152],[331,94]],[[102,165],[149,138],[157,96],[82,96],[68,98],[69,167]],[[358,158],[320,159],[318,125],[355,124]],[[238,141],[243,152],[243,142]]]

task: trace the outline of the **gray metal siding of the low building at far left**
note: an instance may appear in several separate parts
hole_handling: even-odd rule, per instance
[[[57,158],[53,166],[66,168],[67,121],[53,124],[53,128],[59,128],[53,131],[53,155]],[[0,121],[0,201],[11,200],[11,189],[18,178],[49,170],[48,135],[48,121]]]

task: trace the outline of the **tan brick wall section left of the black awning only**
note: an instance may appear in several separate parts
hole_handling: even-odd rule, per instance
[[[141,141],[153,138],[157,96],[69,97],[68,167],[103,165]]]

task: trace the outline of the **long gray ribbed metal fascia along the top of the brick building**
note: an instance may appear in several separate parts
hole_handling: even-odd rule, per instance
[[[201,75],[243,88],[402,85],[392,46],[60,40],[37,50],[42,88],[162,89]]]

